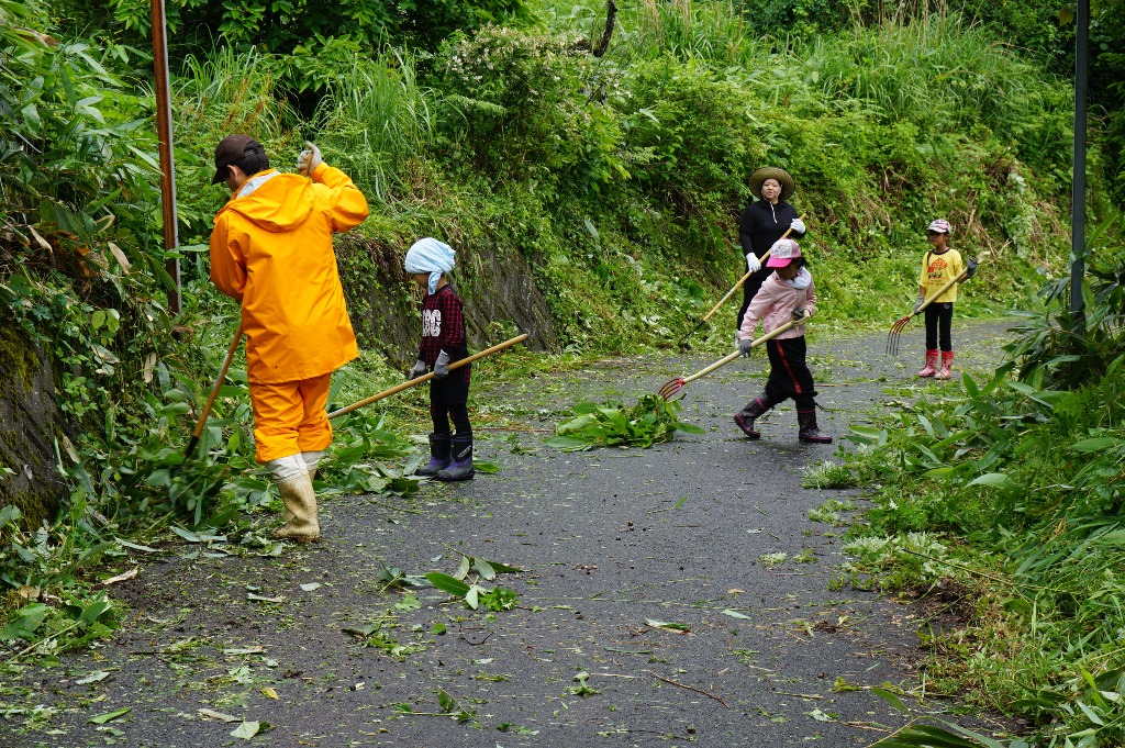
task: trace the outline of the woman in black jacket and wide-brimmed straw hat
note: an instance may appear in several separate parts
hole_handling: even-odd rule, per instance
[[[742,283],[742,307],[738,310],[735,330],[742,326],[742,316],[750,306],[750,299],[762,288],[763,281],[773,274],[773,269],[766,268],[758,258],[768,252],[790,228],[791,238],[804,236],[804,222],[798,217],[796,209],[785,202],[794,189],[793,178],[784,169],[763,166],[750,174],[750,193],[760,199],[746,206],[738,225],[746,270],[753,274]]]

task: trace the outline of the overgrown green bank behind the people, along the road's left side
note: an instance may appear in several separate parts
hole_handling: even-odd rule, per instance
[[[480,376],[668,344],[738,277],[737,216],[746,175],[763,163],[798,178],[828,330],[907,308],[920,229],[937,214],[958,227],[958,249],[996,260],[958,314],[1020,304],[1065,267],[1059,196],[1073,97],[1040,64],[1058,62],[1060,39],[1038,8],[976,24],[971,8],[882,17],[861,3],[857,17],[837,18],[817,3],[750,3],[744,15],[723,2],[639,3],[621,9],[598,56],[604,9],[593,2],[436,3],[433,18],[360,2],[334,28],[289,33],[264,3],[256,21],[214,28],[194,22],[204,3],[171,4],[177,316],[163,301],[143,3],[0,0],[10,123],[0,304],[4,324],[50,354],[66,421],[55,439],[58,517],[0,514],[2,638],[18,657],[107,636],[120,612],[97,585],[109,576],[102,564],[127,543],[177,540],[170,524],[197,539],[222,533],[244,552],[280,551],[262,526],[274,498],[254,472],[238,367],[197,459],[172,480],[237,315],[207,283],[205,247],[226,198],[205,187],[210,154],[230,132],[255,135],[284,169],[315,137],[371,200],[371,218],[339,246],[368,351],[338,378],[341,405],[400,379],[396,359],[417,328],[400,253],[426,234],[460,252],[454,280],[476,344],[507,336],[510,312],[538,299],[552,330],[540,344],[564,357],[508,357]],[[1099,10],[1109,40],[1116,4]],[[1006,45],[1005,29],[1036,30],[1036,48]],[[1117,121],[1095,133],[1106,145],[1094,159],[1102,213]],[[495,298],[504,268],[520,269],[511,288],[525,295]],[[717,325],[712,344],[727,335]],[[421,397],[341,424],[325,489],[404,501]]]

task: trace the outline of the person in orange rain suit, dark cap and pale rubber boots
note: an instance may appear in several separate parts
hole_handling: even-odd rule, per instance
[[[332,372],[359,355],[332,233],[367,218],[363,193],[306,143],[297,174],[270,169],[261,144],[228,135],[212,183],[232,197],[215,216],[210,278],[242,303],[255,459],[285,503],[276,538],[321,537],[313,477],[332,443],[325,406]]]

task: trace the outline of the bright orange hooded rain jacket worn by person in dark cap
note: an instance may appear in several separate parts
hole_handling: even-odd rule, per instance
[[[251,382],[310,379],[359,355],[332,232],[367,215],[348,174],[322,163],[312,181],[259,172],[215,216],[210,278],[242,301]]]

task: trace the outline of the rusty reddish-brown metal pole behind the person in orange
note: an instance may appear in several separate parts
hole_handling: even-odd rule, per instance
[[[176,217],[176,160],[172,155],[172,94],[168,85],[168,39],[164,27],[164,0],[152,0],[152,64],[156,79],[156,135],[160,138],[160,192],[164,214],[164,250],[180,245],[180,231]],[[173,287],[168,291],[168,308],[179,314],[180,261],[170,258],[164,269],[172,277]]]

